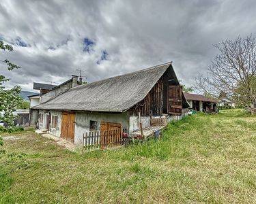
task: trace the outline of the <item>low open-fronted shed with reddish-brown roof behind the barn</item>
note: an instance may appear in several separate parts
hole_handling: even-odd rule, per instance
[[[199,112],[211,112],[216,110],[217,100],[203,95],[196,95],[192,93],[185,93],[186,100],[189,103],[189,107]]]

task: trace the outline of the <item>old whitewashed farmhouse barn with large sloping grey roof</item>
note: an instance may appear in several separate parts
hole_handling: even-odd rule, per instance
[[[154,117],[181,118],[188,106],[171,63],[166,63],[70,88],[31,109],[38,110],[39,129],[80,144],[85,132],[132,133],[139,129],[139,118],[145,128]]]

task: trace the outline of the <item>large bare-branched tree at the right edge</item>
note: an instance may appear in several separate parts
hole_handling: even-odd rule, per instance
[[[227,39],[214,45],[219,54],[208,69],[199,74],[196,86],[202,92],[227,99],[254,112],[256,99],[256,39],[252,35],[242,39]]]

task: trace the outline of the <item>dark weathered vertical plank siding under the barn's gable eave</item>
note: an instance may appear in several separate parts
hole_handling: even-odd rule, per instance
[[[139,116],[139,112],[141,116],[162,115],[162,89],[163,79],[160,78],[143,101],[137,103],[130,109],[130,115]]]

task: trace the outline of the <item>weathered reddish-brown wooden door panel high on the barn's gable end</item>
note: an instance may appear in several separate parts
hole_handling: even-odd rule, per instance
[[[168,113],[171,115],[181,115],[182,114],[182,86],[169,85],[168,98],[169,98]]]

